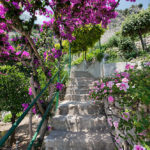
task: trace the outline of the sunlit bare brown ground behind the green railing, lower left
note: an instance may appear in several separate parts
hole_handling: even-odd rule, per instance
[[[16,129],[16,141],[18,142],[18,148],[16,149],[16,144],[13,145],[12,148],[9,148],[7,142],[5,147],[0,150],[26,150],[29,143],[29,130],[28,130],[28,122],[29,117],[26,116],[18,128]],[[33,116],[33,132],[35,132],[38,123],[40,122],[40,118],[37,116]],[[0,122],[0,132],[6,132],[11,127],[11,123],[3,123]]]

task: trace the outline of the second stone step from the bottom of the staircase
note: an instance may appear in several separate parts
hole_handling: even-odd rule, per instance
[[[55,130],[73,132],[107,129],[107,121],[104,115],[56,115],[51,119],[50,124]]]

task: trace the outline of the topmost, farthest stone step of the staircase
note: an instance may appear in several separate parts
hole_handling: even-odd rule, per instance
[[[71,78],[74,77],[89,77],[92,78],[92,75],[88,73],[87,71],[73,71],[71,72]]]

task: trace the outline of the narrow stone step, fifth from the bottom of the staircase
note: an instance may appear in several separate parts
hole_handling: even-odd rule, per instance
[[[89,94],[90,89],[67,88],[66,94]]]

